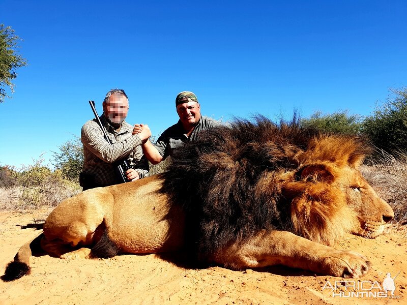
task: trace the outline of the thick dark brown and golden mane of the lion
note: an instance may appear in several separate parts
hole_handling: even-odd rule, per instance
[[[332,181],[341,166],[357,167],[368,151],[357,137],[318,134],[296,118],[279,124],[263,116],[254,123],[238,119],[180,148],[161,174],[160,192],[184,208],[186,240],[201,258],[260,229],[331,245],[353,215]],[[306,165],[313,171],[306,173]]]

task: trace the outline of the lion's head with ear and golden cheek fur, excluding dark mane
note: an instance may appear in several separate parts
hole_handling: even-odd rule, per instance
[[[284,185],[292,197],[295,233],[334,245],[344,233],[375,238],[394,217],[392,208],[349,164],[316,162],[302,166]]]

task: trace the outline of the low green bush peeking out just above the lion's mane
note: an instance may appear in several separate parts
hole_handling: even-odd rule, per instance
[[[360,116],[350,115],[348,111],[324,115],[317,111],[309,118],[301,119],[301,125],[324,133],[359,134],[361,131]]]

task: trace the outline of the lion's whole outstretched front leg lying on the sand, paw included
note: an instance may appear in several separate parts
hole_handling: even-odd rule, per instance
[[[234,269],[284,265],[323,275],[358,278],[369,269],[362,255],[321,245],[286,231],[261,230],[213,256],[216,263]]]

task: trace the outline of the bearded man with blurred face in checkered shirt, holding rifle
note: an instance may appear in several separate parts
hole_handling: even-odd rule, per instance
[[[149,163],[143,156],[141,144],[151,136],[149,129],[132,135],[133,126],[124,119],[129,110],[129,101],[122,89],[112,89],[103,101],[103,114],[99,117],[111,144],[96,118],[87,121],[81,130],[83,144],[83,172],[80,176],[83,191],[106,187],[118,183],[114,163],[127,160],[130,168],[126,171],[128,180],[148,176]]]

